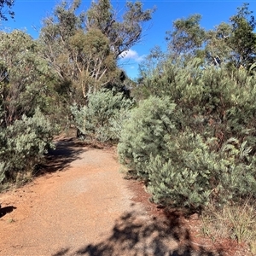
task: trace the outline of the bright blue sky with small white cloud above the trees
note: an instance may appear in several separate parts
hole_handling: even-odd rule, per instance
[[[134,1],[132,1],[134,2]],[[172,22],[179,18],[186,18],[192,14],[201,14],[201,26],[211,29],[222,21],[228,21],[231,15],[236,14],[236,8],[242,3],[250,3],[250,9],[256,16],[255,1],[195,1],[195,0],[166,0],[151,1],[143,0],[144,9],[156,6],[153,19],[145,27],[143,41],[134,46],[126,55],[125,60],[121,61],[122,68],[131,77],[137,77],[138,63],[143,60],[143,56],[148,55],[149,50],[154,45],[160,45],[163,49],[166,47],[166,31],[172,30]],[[42,26],[44,17],[52,13],[52,9],[60,1],[57,0],[15,0],[15,20],[3,22],[0,29],[18,28],[26,30],[33,38],[38,37],[38,32]],[[113,6],[117,9],[123,9],[125,1],[114,0]],[[90,0],[82,0],[81,9],[88,9]]]

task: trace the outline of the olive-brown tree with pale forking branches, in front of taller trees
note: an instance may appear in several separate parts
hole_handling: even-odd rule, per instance
[[[84,99],[119,76],[109,39],[99,29],[77,31],[69,43],[73,84],[80,87]]]

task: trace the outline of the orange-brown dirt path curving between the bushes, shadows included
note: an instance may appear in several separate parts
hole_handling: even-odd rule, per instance
[[[113,150],[66,140],[51,158],[43,176],[0,195],[1,256],[225,255],[197,244],[179,216],[152,214]]]

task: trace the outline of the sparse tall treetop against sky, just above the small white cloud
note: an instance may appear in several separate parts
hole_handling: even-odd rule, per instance
[[[138,44],[143,38],[144,24],[151,20],[153,9],[143,10],[143,3],[126,2],[125,11],[119,17],[109,0],[92,2],[86,13],[85,28],[96,27],[109,38],[115,58]]]

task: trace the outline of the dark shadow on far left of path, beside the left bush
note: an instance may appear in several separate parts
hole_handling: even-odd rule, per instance
[[[46,162],[40,166],[38,176],[66,169],[74,160],[79,160],[79,155],[85,151],[84,148],[77,146],[73,138],[63,138],[55,145],[55,150],[50,149],[46,155]]]

